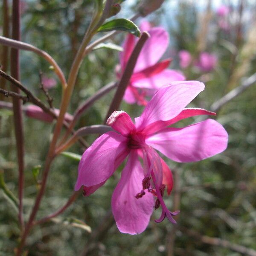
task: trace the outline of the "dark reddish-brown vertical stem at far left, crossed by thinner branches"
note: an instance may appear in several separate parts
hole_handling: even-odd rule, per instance
[[[12,38],[20,41],[20,0],[13,0],[12,2]],[[11,74],[20,80],[20,56],[19,50],[11,49]],[[12,90],[19,94],[20,90],[12,85]],[[22,110],[20,99],[12,98],[13,102],[13,117],[15,127],[15,138],[17,148],[17,160],[19,169],[18,179],[18,195],[19,195],[19,223],[20,228],[24,228],[23,220],[23,190],[24,190],[24,137],[23,137],[23,124],[22,124]]]

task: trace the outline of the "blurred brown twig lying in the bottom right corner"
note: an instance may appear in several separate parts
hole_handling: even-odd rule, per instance
[[[216,237],[203,236],[200,233],[198,233],[197,231],[189,230],[189,229],[186,229],[185,227],[179,227],[179,229],[180,229],[181,232],[186,233],[186,235],[188,235],[188,236],[190,236],[194,239],[200,240],[204,244],[221,246],[221,247],[233,250],[235,252],[241,253],[243,255],[256,256],[256,251],[255,250],[246,248],[242,245],[232,244],[232,243],[230,243],[230,241],[220,239],[220,238],[216,238]]]

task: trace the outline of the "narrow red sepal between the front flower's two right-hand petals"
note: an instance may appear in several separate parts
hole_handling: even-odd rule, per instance
[[[181,111],[175,118],[168,120],[168,121],[157,121],[154,122],[151,125],[148,125],[145,130],[144,133],[145,134],[153,134],[157,131],[160,131],[164,128],[166,128],[169,125],[172,125],[182,119],[185,118],[189,118],[192,116],[198,116],[198,115],[211,115],[211,116],[215,116],[216,113],[212,112],[212,111],[208,111],[205,110],[203,108],[184,108],[183,111]]]

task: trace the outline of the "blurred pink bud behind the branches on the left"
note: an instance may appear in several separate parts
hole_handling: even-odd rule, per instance
[[[38,119],[44,122],[52,122],[54,118],[49,114],[45,113],[41,108],[36,105],[28,105],[24,108],[24,111],[27,116],[32,117],[34,119]],[[54,110],[55,114],[58,116],[60,113],[59,109]],[[65,114],[65,121],[71,122],[73,120],[73,116],[69,113]]]

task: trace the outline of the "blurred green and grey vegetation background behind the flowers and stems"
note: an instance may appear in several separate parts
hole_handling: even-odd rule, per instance
[[[89,24],[93,2],[23,1],[22,41],[52,55],[67,76]],[[133,15],[139,2],[126,0],[117,17]],[[2,1],[0,7],[2,35]],[[225,8],[226,11],[223,11]],[[187,80],[205,83],[204,92],[190,107],[214,109],[213,104],[218,99],[241,86],[246,78],[256,72],[256,3],[253,0],[166,0],[161,9],[145,20],[153,26],[163,26],[169,32],[170,46],[163,57],[173,58],[171,68],[182,70]],[[136,20],[138,25],[140,22],[142,19]],[[125,36],[125,33],[119,33],[110,41],[121,45]],[[181,50],[186,50],[190,55],[186,67],[180,62]],[[202,52],[214,56],[207,69],[198,65]],[[117,51],[99,49],[84,59],[69,113],[73,113],[79,103],[99,88],[116,81],[118,56]],[[48,63],[32,52],[22,51],[21,81],[45,101],[39,88],[40,70],[48,79],[53,79],[53,84],[56,81],[49,93],[54,97],[54,106],[58,108],[61,84]],[[113,91],[97,101],[84,113],[76,128],[102,124],[112,98]],[[136,117],[143,108],[122,102],[121,109]],[[226,151],[198,163],[177,164],[165,159],[175,178],[174,190],[169,197],[166,196],[165,201],[169,209],[181,211],[177,226],[167,220],[156,224],[154,218],[160,215],[160,210],[157,210],[144,233],[137,236],[119,233],[111,213],[111,195],[121,166],[105,186],[93,195],[88,198],[80,195],[62,215],[35,227],[27,240],[28,255],[255,255],[249,253],[256,250],[256,84],[224,104],[217,113],[216,119],[229,134]],[[202,119],[191,118],[179,125],[199,120]],[[38,190],[38,181],[32,169],[37,165],[43,166],[53,127],[54,122],[49,124],[24,116],[25,218],[29,217]],[[88,143],[95,139],[96,136],[85,137]],[[69,151],[83,153],[79,145],[74,145]],[[74,160],[62,155],[56,158],[38,218],[64,205],[73,192],[77,167],[78,162]],[[7,186],[17,195],[12,111],[4,109],[0,110],[0,169],[4,171]],[[37,179],[40,180],[40,174]],[[74,225],[75,219],[86,225]],[[0,255],[13,255],[18,237],[17,212],[0,191]]]

